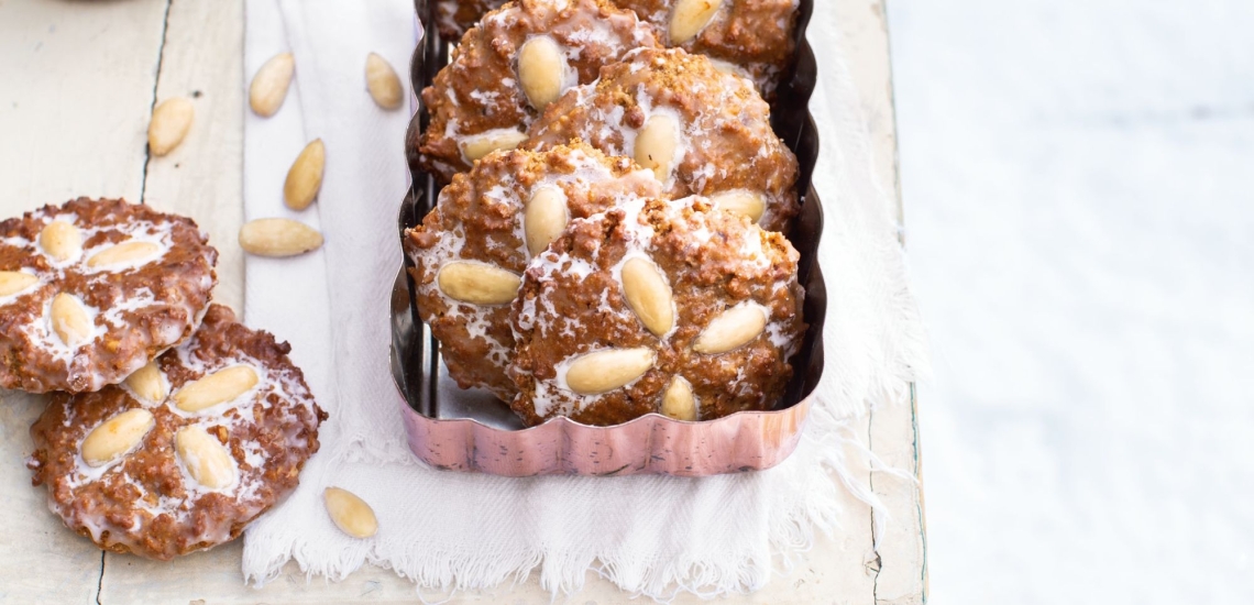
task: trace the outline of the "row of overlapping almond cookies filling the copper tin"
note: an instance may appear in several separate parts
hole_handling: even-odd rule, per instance
[[[410,142],[446,183],[405,245],[449,374],[528,424],[774,408],[805,324],[762,93],[796,3],[490,4],[439,3],[445,35],[482,20]]]

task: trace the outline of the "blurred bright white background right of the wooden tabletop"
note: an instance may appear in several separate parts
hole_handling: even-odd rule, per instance
[[[1254,1],[888,4],[933,602],[1254,602]]]

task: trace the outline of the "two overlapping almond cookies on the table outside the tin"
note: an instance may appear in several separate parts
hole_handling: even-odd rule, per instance
[[[102,549],[229,541],[319,448],[290,346],[211,302],[217,257],[192,220],[122,200],[0,222],[0,387],[51,394],[28,466]]]

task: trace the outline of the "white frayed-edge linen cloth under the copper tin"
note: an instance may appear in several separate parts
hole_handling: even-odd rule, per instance
[[[443,589],[485,587],[537,571],[547,589],[573,591],[592,567],[655,597],[747,591],[769,581],[774,555],[805,547],[816,528],[835,527],[838,482],[874,500],[844,472],[851,434],[844,423],[868,402],[908,388],[925,363],[923,336],[894,205],[874,185],[865,122],[833,39],[833,8],[816,4],[810,38],[823,79],[811,108],[823,139],[815,185],[826,211],[826,373],[796,453],[767,472],[701,479],[513,479],[418,462],[405,444],[389,372],[409,114],[379,109],[364,74],[375,51],[408,80],[413,4],[247,3],[246,77],[290,50],[296,79],[277,115],[246,114],[246,215],[292,216],[320,227],[326,245],[297,259],[250,257],[246,320],[291,341],[331,419],[296,492],[248,528],[246,579],[265,581],[295,559],[310,575],[342,579],[376,564]],[[319,137],[326,143],[321,195],[310,210],[290,212],[282,179]],[[335,528],[321,501],[332,485],[372,505],[377,536],[354,540]]]

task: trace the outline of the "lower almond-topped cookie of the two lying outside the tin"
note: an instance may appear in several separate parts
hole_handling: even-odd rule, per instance
[[[30,428],[34,485],[102,549],[169,560],[236,538],[319,449],[291,348],[212,305],[196,335],[120,385],[56,393]]]

